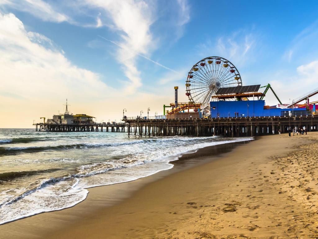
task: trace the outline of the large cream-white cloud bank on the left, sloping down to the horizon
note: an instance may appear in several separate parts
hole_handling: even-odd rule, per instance
[[[27,32],[12,13],[0,13],[0,72],[0,127],[31,127],[33,120],[62,110],[65,98],[71,112],[93,115],[100,122],[120,120],[122,108],[128,116],[148,107],[150,115],[160,114],[158,102],[169,103],[173,95],[125,96],[100,81],[98,74],[73,65],[49,38]]]

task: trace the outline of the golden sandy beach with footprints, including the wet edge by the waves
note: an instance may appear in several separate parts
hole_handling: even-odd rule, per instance
[[[90,188],[72,208],[4,224],[0,238],[316,238],[317,140],[200,149],[171,170]]]

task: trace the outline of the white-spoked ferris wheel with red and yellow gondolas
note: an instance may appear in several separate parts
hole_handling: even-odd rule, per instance
[[[186,80],[186,95],[190,102],[209,104],[219,88],[242,86],[241,76],[236,67],[218,56],[210,56],[197,62]]]

